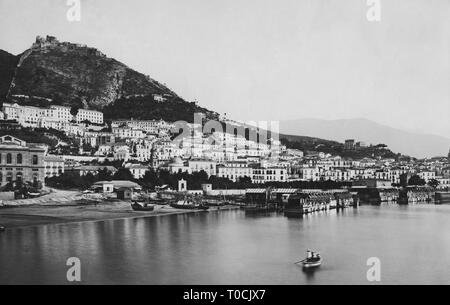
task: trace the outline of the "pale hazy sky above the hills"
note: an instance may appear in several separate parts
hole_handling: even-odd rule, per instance
[[[239,120],[364,117],[450,136],[450,0],[0,0],[0,49],[97,47]]]

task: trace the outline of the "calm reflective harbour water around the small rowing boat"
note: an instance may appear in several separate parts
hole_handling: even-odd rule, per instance
[[[307,248],[323,266],[294,264]],[[0,233],[0,284],[450,284],[450,206],[363,206],[303,219],[221,211],[47,225]]]

